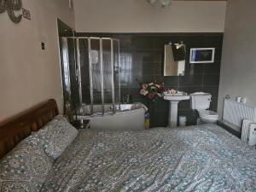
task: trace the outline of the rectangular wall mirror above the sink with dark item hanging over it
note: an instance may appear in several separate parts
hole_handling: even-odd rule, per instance
[[[164,76],[184,76],[186,47],[180,44],[165,45]]]

